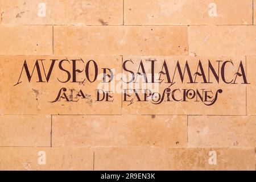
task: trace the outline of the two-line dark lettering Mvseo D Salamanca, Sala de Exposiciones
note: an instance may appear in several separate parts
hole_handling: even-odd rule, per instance
[[[161,104],[195,101],[210,106],[216,103],[224,90],[209,89],[208,84],[249,84],[243,61],[234,64],[232,60],[127,59],[123,60],[122,73],[116,73],[115,68],[101,67],[96,60],[24,60],[14,86],[22,84],[24,80],[28,84],[59,82],[56,84],[61,85],[59,92],[49,101],[52,103],[89,98],[92,94],[88,96],[84,89],[97,83],[95,101],[113,102],[114,93],[122,93],[122,101],[128,105],[135,102]],[[115,86],[118,85],[117,81],[121,81],[121,87]],[[67,88],[65,84],[68,83],[79,84],[82,88],[77,90],[77,85]]]

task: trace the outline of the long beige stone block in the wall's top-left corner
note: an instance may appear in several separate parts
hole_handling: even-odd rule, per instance
[[[3,24],[123,24],[122,0],[1,0]]]

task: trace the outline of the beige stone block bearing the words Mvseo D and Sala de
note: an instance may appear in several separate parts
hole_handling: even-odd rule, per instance
[[[119,56],[1,56],[0,113],[121,114],[121,93],[102,83],[104,68],[121,73],[121,63]]]

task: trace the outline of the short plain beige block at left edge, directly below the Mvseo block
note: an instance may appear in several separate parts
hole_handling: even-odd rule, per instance
[[[0,115],[0,146],[51,146],[51,115]]]

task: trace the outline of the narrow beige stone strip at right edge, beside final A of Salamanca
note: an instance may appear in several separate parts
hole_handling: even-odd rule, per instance
[[[247,75],[250,78],[250,84],[246,86],[247,91],[247,114],[256,115],[256,57],[246,57],[247,61]]]

